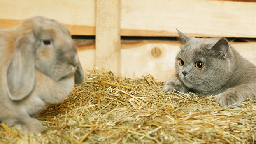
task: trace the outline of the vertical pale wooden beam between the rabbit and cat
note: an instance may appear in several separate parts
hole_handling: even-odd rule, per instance
[[[96,0],[96,56],[99,70],[120,75],[120,0]]]

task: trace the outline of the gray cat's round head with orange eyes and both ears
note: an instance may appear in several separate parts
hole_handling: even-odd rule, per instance
[[[195,38],[177,30],[183,43],[175,67],[180,80],[196,92],[219,90],[232,74],[230,45],[223,38]]]

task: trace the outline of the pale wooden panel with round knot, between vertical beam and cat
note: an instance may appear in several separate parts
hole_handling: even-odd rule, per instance
[[[151,74],[158,81],[175,75],[175,57],[179,43],[144,42],[141,45],[123,44],[121,49],[121,74],[125,77],[141,77]]]

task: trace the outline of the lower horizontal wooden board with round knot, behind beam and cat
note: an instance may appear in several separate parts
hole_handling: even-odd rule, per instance
[[[80,43],[81,44],[81,43]],[[245,58],[256,64],[256,42],[235,42],[232,46]],[[167,81],[175,71],[175,56],[179,42],[121,41],[121,75],[141,77],[152,74],[158,81]],[[79,47],[79,58],[84,69],[95,67],[95,45]]]

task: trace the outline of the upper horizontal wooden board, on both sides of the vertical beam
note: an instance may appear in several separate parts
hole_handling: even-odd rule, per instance
[[[31,16],[56,19],[72,35],[95,35],[95,0],[1,0],[0,28]],[[121,0],[122,36],[256,38],[256,2],[223,0]]]

